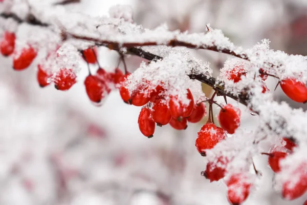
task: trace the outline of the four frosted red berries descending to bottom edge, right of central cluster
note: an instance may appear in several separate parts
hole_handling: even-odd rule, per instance
[[[209,101],[211,104],[212,101]],[[206,150],[215,147],[218,142],[227,137],[227,133],[233,134],[240,125],[240,110],[231,104],[223,106],[217,118],[221,127],[214,125],[212,106],[209,108],[209,119],[207,123],[198,132],[198,138],[195,141],[196,149],[202,156],[206,156]],[[211,112],[211,115],[210,115]],[[202,175],[212,181],[218,181],[225,177],[227,163],[229,159],[223,156],[217,157],[214,161],[207,163],[206,170]],[[251,183],[245,180],[242,173],[232,174],[226,182],[228,188],[228,200],[232,204],[239,204],[246,200],[249,195]],[[241,192],[238,193],[237,190]]]

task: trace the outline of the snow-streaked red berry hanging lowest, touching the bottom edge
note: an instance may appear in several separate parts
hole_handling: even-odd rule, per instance
[[[239,205],[245,201],[250,193],[251,183],[243,174],[234,174],[226,182],[228,188],[228,200],[233,205]]]

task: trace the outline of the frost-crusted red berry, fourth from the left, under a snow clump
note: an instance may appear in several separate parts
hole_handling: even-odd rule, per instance
[[[54,87],[57,90],[69,90],[77,81],[72,69],[61,68],[53,77]]]

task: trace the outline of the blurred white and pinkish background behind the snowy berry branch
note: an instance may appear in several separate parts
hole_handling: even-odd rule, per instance
[[[145,28],[166,23],[170,30],[205,32],[210,24],[244,48],[269,38],[274,50],[307,55],[307,0],[82,0],[65,7],[99,16],[116,4],[130,5],[135,22]],[[117,53],[105,48],[98,52],[100,64],[114,69]],[[229,57],[191,52],[210,61],[215,76]],[[128,70],[133,72],[141,61],[128,57]],[[228,204],[224,183],[210,183],[200,175],[206,161],[194,142],[205,118],[185,131],[157,127],[147,139],[138,128],[140,108],[124,104],[118,91],[102,107],[90,103],[83,86],[84,63],[79,83],[62,92],[53,86],[41,89],[35,66],[16,72],[10,58],[0,56],[0,62],[0,204]],[[277,81],[266,82],[273,92]],[[210,88],[203,90],[210,96]],[[274,97],[302,107],[280,88]],[[256,129],[257,116],[232,103],[243,111],[240,129]],[[267,157],[254,160],[262,178],[244,205],[302,204],[307,199],[282,200],[272,189]]]

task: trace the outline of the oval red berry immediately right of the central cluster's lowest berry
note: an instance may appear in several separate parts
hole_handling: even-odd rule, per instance
[[[171,119],[171,114],[165,102],[162,99],[158,99],[155,105],[152,107],[152,119],[158,125],[166,125]]]

